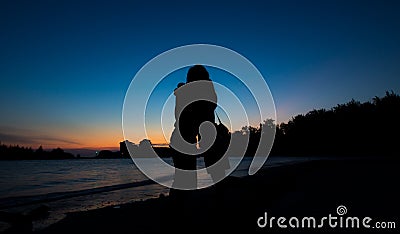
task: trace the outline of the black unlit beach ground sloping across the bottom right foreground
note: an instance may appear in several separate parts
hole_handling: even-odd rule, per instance
[[[217,187],[93,211],[68,214],[40,233],[399,233],[400,164],[392,159],[311,161],[270,168]],[[339,216],[337,207],[347,213]],[[370,229],[265,228],[260,216],[372,218]],[[376,221],[396,228],[377,229]],[[286,225],[288,221],[286,220]],[[300,223],[301,225],[301,223]],[[339,225],[339,224],[338,224]],[[360,226],[362,224],[360,223]]]

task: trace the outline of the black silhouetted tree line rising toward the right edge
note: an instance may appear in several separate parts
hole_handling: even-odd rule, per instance
[[[400,132],[400,96],[393,91],[361,103],[354,99],[329,110],[312,110],[276,125],[271,155],[395,156]],[[269,120],[270,126],[271,120]],[[250,132],[246,156],[254,155],[265,126]]]

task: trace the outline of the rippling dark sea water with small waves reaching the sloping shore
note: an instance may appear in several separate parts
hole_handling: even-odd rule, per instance
[[[171,159],[165,159],[172,163]],[[239,159],[231,159],[235,165]],[[244,158],[231,176],[247,175],[251,158]],[[308,158],[269,158],[265,167],[305,161]],[[204,161],[198,160],[199,168]],[[199,186],[207,183],[199,178]],[[72,159],[0,161],[0,210],[26,213],[40,205],[49,216],[35,220],[34,230],[65,217],[68,212],[85,211],[167,195],[169,189],[153,183],[131,159]],[[0,221],[0,230],[7,226]]]

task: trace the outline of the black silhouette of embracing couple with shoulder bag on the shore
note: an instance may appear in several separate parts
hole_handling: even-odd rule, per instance
[[[210,166],[224,155],[230,134],[221,122],[219,125],[215,123],[217,95],[206,68],[202,65],[191,67],[186,83],[179,83],[174,95],[175,129],[170,140],[176,168],[173,187],[197,188],[198,156],[204,157],[207,172],[214,182],[218,182],[229,169],[229,161],[221,160],[218,167]]]

